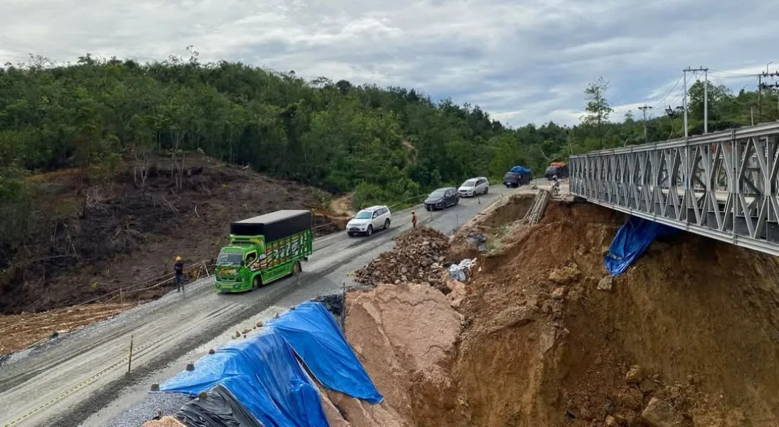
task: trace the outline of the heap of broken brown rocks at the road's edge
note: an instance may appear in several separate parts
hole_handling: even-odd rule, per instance
[[[382,283],[428,282],[444,293],[449,288],[442,281],[443,254],[449,238],[432,228],[415,228],[395,238],[395,249],[384,252],[367,266],[354,272],[354,280],[375,286]]]

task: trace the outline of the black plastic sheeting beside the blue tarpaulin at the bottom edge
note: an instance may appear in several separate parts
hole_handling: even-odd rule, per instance
[[[218,385],[176,412],[176,418],[189,427],[264,427],[229,390]]]

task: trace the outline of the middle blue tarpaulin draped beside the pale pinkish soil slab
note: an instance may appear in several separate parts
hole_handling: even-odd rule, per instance
[[[384,399],[321,302],[304,302],[266,325],[287,340],[323,386],[372,404]]]

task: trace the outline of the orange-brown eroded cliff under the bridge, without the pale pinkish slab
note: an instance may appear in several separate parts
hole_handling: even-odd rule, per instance
[[[620,224],[610,210],[552,203],[474,280],[453,371],[469,415],[478,425],[779,419],[774,259],[682,234],[655,242],[601,291]],[[485,354],[496,356],[485,364]],[[494,378],[506,383],[493,389]]]

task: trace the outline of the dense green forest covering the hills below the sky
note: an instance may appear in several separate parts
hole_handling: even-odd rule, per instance
[[[69,65],[41,57],[6,64],[0,202],[23,203],[19,177],[30,172],[81,168],[83,179],[110,181],[124,157],[135,162],[136,185],[143,186],[150,154],[170,155],[181,176],[181,153],[203,150],[331,192],[354,190],[358,205],[391,204],[470,176],[499,178],[515,164],[540,174],[572,153],[643,143],[643,123],[632,112],[622,123],[608,122],[604,79],[584,91],[581,125],[509,129],[478,106],[434,103],[413,89],[307,82],[294,72],[201,64],[189,51],[189,59],[148,64],[90,55]],[[702,83],[693,84],[691,134],[703,128],[702,99]],[[756,93],[711,87],[710,130],[748,125],[756,104]],[[756,122],[777,118],[774,94],[766,91],[763,105]],[[650,120],[647,132],[650,141],[679,136],[681,118]]]

